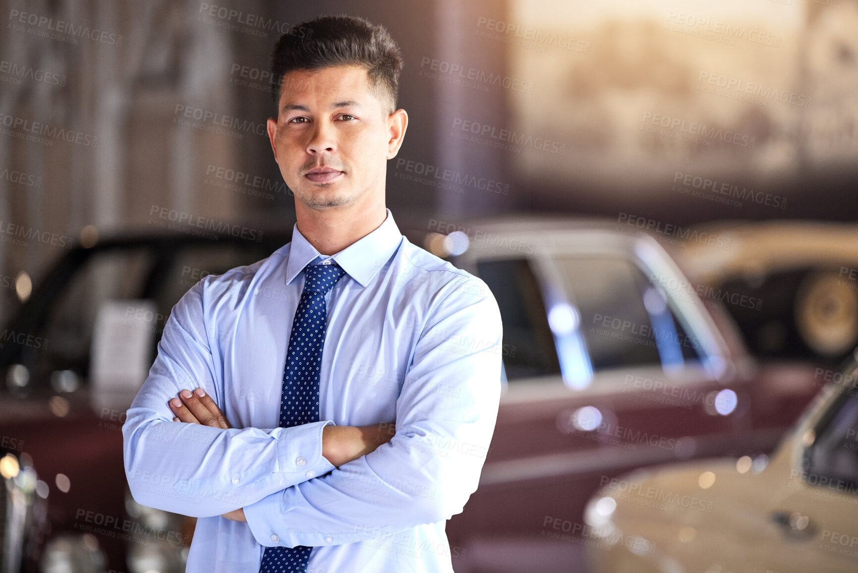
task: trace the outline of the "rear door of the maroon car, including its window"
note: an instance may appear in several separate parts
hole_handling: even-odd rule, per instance
[[[728,453],[750,428],[728,352],[696,295],[670,288],[683,277],[667,253],[639,253],[593,248],[552,258],[594,372],[583,392],[605,407],[595,432],[610,439],[599,441],[600,456],[606,467],[623,460],[631,469]]]

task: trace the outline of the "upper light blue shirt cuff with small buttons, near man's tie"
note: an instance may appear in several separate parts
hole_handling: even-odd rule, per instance
[[[322,431],[327,425],[334,423],[323,420],[277,429],[280,430],[276,435],[278,468],[292,478],[287,480],[291,484],[300,484],[335,470],[322,455]]]

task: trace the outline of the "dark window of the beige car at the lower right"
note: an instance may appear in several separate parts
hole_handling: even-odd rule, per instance
[[[819,430],[809,452],[809,472],[831,483],[858,484],[858,391],[844,391],[837,411]]]

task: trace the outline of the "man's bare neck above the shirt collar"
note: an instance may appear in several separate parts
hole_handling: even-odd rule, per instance
[[[387,216],[384,198],[378,203],[312,209],[295,200],[298,230],[319,254],[339,253],[378,229]]]

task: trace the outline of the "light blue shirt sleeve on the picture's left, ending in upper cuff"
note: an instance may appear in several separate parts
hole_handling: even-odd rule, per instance
[[[221,515],[334,469],[322,455],[330,421],[259,430],[173,422],[184,388],[223,410],[221,371],[209,346],[203,279],[172,309],[149,375],[122,427],[125,475],[137,503],[191,517]],[[212,332],[216,332],[217,329]]]

